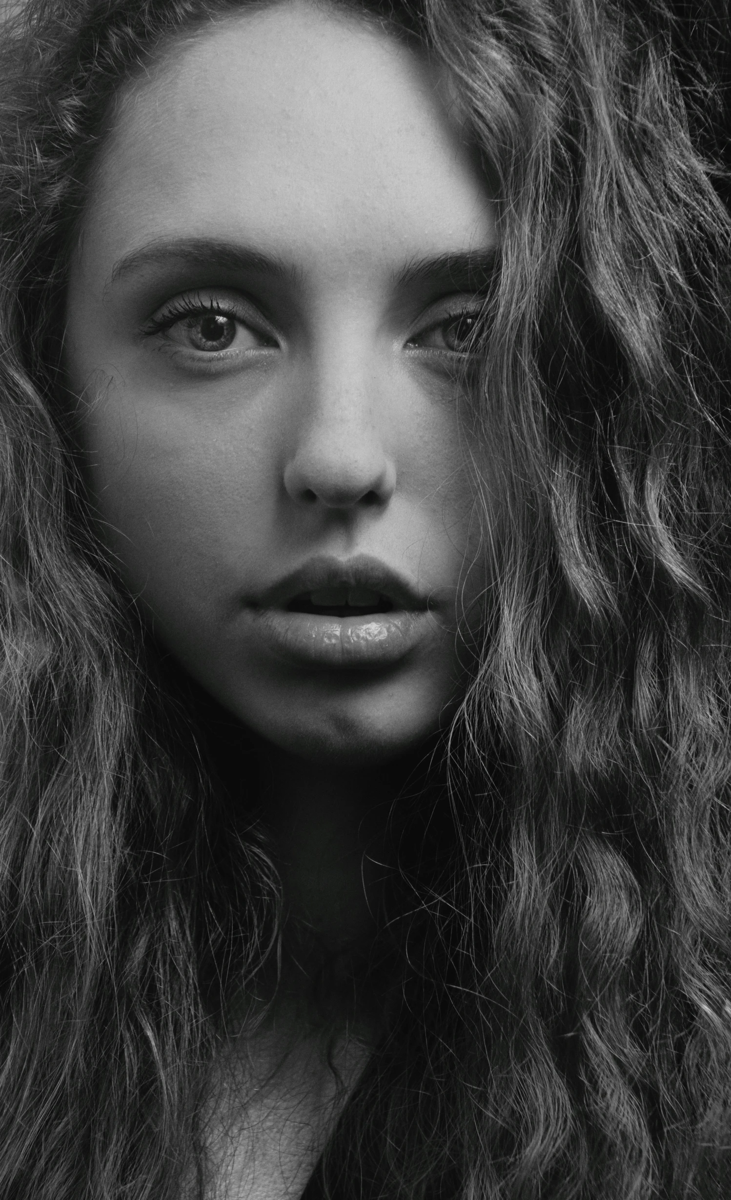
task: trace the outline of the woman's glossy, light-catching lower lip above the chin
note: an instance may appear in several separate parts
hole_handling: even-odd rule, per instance
[[[301,666],[379,667],[403,659],[426,634],[429,613],[396,610],[366,617],[317,617],[264,608],[259,636],[278,658]]]

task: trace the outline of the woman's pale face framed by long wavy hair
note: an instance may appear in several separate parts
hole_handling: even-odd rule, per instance
[[[445,720],[484,588],[457,374],[496,246],[433,67],[244,12],[122,94],[68,287],[104,538],[155,632],[275,745]]]

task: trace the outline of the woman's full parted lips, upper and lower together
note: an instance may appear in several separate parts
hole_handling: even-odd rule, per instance
[[[388,596],[390,612],[362,617],[324,617],[289,612],[302,592],[364,587]],[[299,666],[378,668],[403,659],[426,636],[429,604],[402,576],[377,558],[346,560],[322,556],[278,580],[246,608],[268,649]]]

